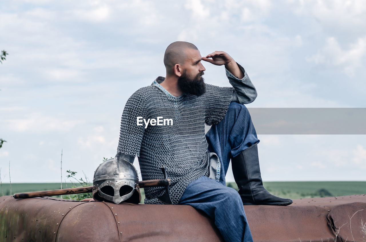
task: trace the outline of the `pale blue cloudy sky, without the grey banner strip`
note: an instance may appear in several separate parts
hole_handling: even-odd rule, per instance
[[[165,76],[174,41],[241,64],[258,92],[249,108],[365,107],[362,0],[2,1],[0,33],[2,182],[9,162],[11,182],[60,182],[61,150],[63,181],[92,180],[116,154],[128,97]],[[230,85],[203,65],[206,83]],[[366,181],[365,135],[258,138],[264,181]]]

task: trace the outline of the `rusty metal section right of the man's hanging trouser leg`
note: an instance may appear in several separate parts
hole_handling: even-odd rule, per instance
[[[361,209],[364,210],[352,218],[352,239],[347,228],[348,216]],[[360,228],[361,218],[366,222],[365,194],[295,199],[286,207],[247,205],[244,210],[255,242],[333,242],[338,230],[337,241],[344,242],[348,237],[347,241],[363,242],[362,236],[366,240]]]

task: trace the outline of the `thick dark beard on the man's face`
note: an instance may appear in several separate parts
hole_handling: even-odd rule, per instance
[[[206,92],[205,80],[203,79],[203,71],[199,72],[194,78],[187,75],[186,70],[183,71],[182,76],[178,78],[179,89],[186,93],[196,96],[201,96]]]

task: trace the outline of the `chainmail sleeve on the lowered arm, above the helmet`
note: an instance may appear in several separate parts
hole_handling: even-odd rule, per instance
[[[137,125],[137,117],[145,117],[146,95],[140,88],[128,98],[124,106],[117,152],[131,156],[140,156],[142,137],[145,132],[144,125]]]

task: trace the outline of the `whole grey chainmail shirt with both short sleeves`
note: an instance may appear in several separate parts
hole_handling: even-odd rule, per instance
[[[142,87],[128,99],[122,114],[117,152],[138,156],[143,180],[162,179],[165,166],[171,179],[170,196],[178,204],[187,186],[199,177],[208,176],[209,152],[205,123],[219,123],[225,116],[232,87],[206,84],[202,96],[183,94],[175,97],[158,82]],[[137,117],[172,119],[173,125],[137,125]],[[146,204],[162,204],[157,198],[163,187],[145,188]]]

